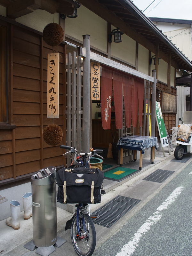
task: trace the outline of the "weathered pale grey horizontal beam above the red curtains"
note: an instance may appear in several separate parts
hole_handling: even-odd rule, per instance
[[[82,52],[83,52],[83,56],[86,57],[86,52],[85,52],[85,48],[82,48]],[[103,57],[97,53],[94,53],[94,52],[90,52],[90,60],[93,60],[93,61],[96,61],[96,62],[99,62],[101,64],[104,64],[108,67],[111,67],[111,68],[116,68],[120,71],[123,71],[127,74],[130,74],[130,75],[133,75],[133,76],[137,76],[137,77],[140,77],[142,79],[146,79],[150,82],[154,82],[154,78],[151,77],[151,76],[148,76],[146,74],[143,74],[135,69],[132,69],[132,68],[129,68],[121,63],[117,63],[116,61],[114,60],[109,60],[108,58],[106,57]]]

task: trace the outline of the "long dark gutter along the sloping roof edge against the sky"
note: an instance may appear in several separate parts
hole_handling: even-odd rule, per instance
[[[140,21],[142,21],[147,28],[152,30],[154,34],[164,40],[164,43],[166,43],[169,47],[172,48],[173,52],[175,52],[177,55],[180,56],[182,60],[185,61],[186,64],[188,64],[192,68],[192,62],[188,60],[187,57],[185,57],[182,52],[174,45],[172,42],[164,36],[164,34],[151,22],[133,3],[132,1],[127,0],[118,0],[119,3],[121,3],[127,10],[131,11],[135,17],[137,17]]]

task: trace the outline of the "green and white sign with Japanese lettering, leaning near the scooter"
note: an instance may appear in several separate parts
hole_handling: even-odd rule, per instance
[[[156,121],[157,121],[157,127],[159,131],[159,137],[161,140],[162,148],[167,147],[169,146],[169,142],[167,139],[166,127],[165,127],[162,112],[161,112],[160,102],[157,102],[157,101],[156,101]]]

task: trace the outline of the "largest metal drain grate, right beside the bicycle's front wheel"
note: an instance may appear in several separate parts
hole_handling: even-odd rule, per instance
[[[107,204],[101,206],[94,213],[98,213],[99,217],[94,220],[95,224],[110,228],[117,220],[119,220],[125,213],[129,212],[133,206],[138,204],[141,200],[126,196],[116,196]]]

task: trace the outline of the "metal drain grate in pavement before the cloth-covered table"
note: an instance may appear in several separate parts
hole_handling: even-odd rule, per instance
[[[150,175],[148,175],[143,180],[148,180],[148,181],[154,181],[154,182],[162,183],[170,175],[172,175],[172,173],[173,173],[173,171],[157,169],[155,172],[152,172]]]

